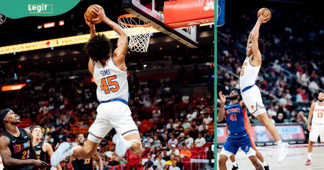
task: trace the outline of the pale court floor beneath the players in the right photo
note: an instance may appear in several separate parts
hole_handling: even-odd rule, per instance
[[[304,165],[307,161],[307,144],[291,144],[289,147],[289,153],[284,162],[277,164],[279,151],[277,146],[270,147],[257,147],[259,152],[263,155],[264,160],[272,170],[314,170],[324,169],[324,144],[314,144],[312,153],[312,164]],[[217,163],[219,159],[219,152],[217,150]],[[236,154],[236,162],[239,170],[253,170],[255,169],[246,154],[239,149]],[[232,169],[232,162],[228,159],[226,162],[228,170]],[[219,166],[217,164],[217,170]]]

